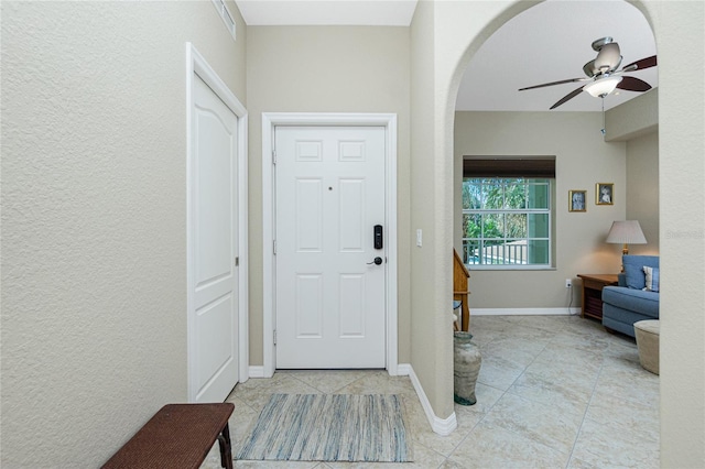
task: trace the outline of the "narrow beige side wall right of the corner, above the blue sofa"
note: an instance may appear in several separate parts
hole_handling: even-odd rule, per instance
[[[659,133],[627,142],[627,220],[639,220],[647,244],[631,244],[631,254],[659,254]]]

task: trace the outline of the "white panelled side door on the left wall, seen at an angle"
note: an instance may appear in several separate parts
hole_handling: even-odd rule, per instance
[[[189,400],[223,402],[238,382],[238,118],[197,74],[191,112]]]

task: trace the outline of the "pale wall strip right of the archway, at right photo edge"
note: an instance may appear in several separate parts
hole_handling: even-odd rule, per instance
[[[694,44],[705,44],[705,3],[644,4],[661,64],[661,465],[697,468],[705,466],[705,50]]]

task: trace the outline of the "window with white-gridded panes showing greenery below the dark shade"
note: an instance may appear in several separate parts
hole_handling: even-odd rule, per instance
[[[554,179],[471,174],[464,171],[463,178],[464,262],[486,269],[551,268]]]

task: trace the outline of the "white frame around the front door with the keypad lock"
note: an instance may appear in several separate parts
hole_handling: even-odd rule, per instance
[[[263,369],[270,378],[276,369],[274,351],[274,172],[273,139],[276,126],[380,126],[386,128],[386,207],[387,230],[387,371],[398,374],[398,302],[397,302],[397,114],[393,113],[262,113],[262,312],[263,312]]]

